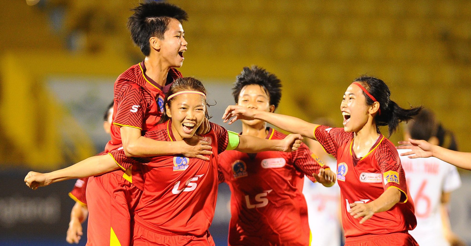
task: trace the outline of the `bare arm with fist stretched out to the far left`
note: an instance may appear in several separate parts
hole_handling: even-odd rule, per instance
[[[24,177],[24,183],[33,190],[36,190],[38,187],[59,181],[101,175],[119,168],[111,155],[96,155],[75,163],[70,167],[50,173],[29,172]]]

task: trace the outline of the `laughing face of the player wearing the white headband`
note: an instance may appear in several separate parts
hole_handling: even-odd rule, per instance
[[[191,138],[203,123],[206,113],[206,99],[196,93],[183,93],[167,104],[167,115],[172,119],[172,131],[177,140]]]

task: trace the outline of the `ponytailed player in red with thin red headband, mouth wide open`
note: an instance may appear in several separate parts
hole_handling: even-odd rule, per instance
[[[378,127],[388,125],[392,134],[421,108],[400,108],[381,79],[362,76],[349,85],[340,109],[343,129],[240,106],[227,107],[223,119],[266,121],[316,139],[337,159],[347,246],[417,245],[407,232],[416,220],[399,155]]]

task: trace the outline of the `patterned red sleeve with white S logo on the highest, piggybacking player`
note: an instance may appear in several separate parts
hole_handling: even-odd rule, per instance
[[[135,83],[123,85],[116,95],[114,103],[117,105],[117,109],[113,124],[142,130],[144,115],[149,106],[145,100],[143,89],[139,85]]]

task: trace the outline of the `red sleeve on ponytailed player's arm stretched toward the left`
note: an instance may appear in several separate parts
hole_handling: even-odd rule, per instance
[[[348,141],[352,132],[343,131],[343,128],[332,128],[325,125],[318,125],[314,129],[314,137],[322,145],[325,152],[332,154],[337,159],[337,150],[345,141]]]

